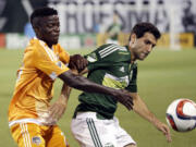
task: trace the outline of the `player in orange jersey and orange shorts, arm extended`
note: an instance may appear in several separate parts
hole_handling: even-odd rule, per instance
[[[133,99],[126,90],[113,89],[75,75],[70,68],[82,71],[87,61],[72,56],[58,44],[60,24],[58,12],[40,8],[30,15],[36,37],[24,51],[23,64],[17,72],[13,98],[9,107],[9,126],[19,147],[68,147],[56,120],[49,118],[49,102],[53,96],[57,77],[64,82],[62,93],[68,99],[70,87],[88,93],[113,96],[128,110]],[[70,68],[69,68],[70,66]]]

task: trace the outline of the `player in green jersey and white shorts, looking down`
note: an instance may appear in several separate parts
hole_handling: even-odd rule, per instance
[[[137,63],[156,46],[160,32],[150,23],[134,26],[127,47],[107,44],[86,56],[87,77],[98,84],[126,89],[133,97],[133,110],[151,122],[171,142],[169,127],[146,107],[137,93]],[[114,117],[118,101],[111,96],[83,93],[78,97],[71,128],[82,147],[136,147],[135,140],[119,125]]]

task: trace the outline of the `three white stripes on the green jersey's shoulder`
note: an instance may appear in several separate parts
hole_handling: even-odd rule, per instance
[[[127,51],[125,47],[121,47],[121,46],[118,46],[118,45],[111,45],[111,46],[100,50],[99,54],[100,54],[101,58],[105,58],[105,57],[111,54],[112,52],[114,52],[117,50]]]

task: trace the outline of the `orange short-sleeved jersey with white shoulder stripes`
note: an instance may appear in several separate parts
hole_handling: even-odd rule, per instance
[[[41,124],[48,117],[49,102],[53,96],[53,82],[66,72],[70,54],[58,44],[50,49],[36,38],[24,51],[23,65],[9,107],[9,125],[19,122]]]

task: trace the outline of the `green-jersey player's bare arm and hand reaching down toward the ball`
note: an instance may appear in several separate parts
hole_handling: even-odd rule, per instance
[[[142,118],[151,122],[159,131],[161,131],[166,135],[167,140],[170,143],[172,139],[171,139],[170,128],[168,127],[168,125],[160,122],[155,117],[155,114],[149,111],[146,103],[142,100],[142,98],[137,93],[131,93],[131,96],[133,97],[133,102],[134,102],[133,110],[136,113],[138,113]]]

